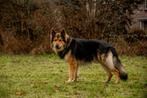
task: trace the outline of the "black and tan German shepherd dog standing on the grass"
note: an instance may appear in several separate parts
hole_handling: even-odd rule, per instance
[[[79,39],[70,37],[64,30],[51,32],[51,47],[53,51],[69,64],[69,79],[67,82],[77,80],[79,61],[98,61],[108,74],[108,83],[112,75],[119,80],[127,80],[128,75],[118,58],[114,47],[106,42],[96,39]]]

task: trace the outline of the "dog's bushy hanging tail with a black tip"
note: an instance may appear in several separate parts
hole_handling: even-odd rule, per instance
[[[113,63],[115,68],[119,71],[119,77],[121,80],[128,80],[128,74],[124,69],[124,66],[122,65],[120,59],[118,58],[117,52],[115,48],[111,48],[111,51],[113,53]]]

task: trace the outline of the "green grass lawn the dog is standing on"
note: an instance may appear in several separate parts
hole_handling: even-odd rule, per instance
[[[0,98],[145,98],[147,58],[121,56],[129,80],[106,85],[99,64],[79,68],[79,78],[67,84],[68,65],[55,55],[1,55]],[[146,97],[147,98],[147,97]]]

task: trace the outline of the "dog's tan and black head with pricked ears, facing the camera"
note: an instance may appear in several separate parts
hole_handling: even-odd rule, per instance
[[[55,32],[52,30],[51,32],[51,47],[55,53],[63,51],[67,45],[69,36],[65,33],[64,30],[61,32]]]

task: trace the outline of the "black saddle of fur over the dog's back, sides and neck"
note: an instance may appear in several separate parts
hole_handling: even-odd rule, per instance
[[[101,40],[87,40],[72,38],[71,43],[63,51],[59,52],[58,55],[64,58],[66,53],[71,50],[71,53],[77,60],[92,61],[99,54],[107,54],[113,47]],[[115,50],[112,51],[117,56]]]

